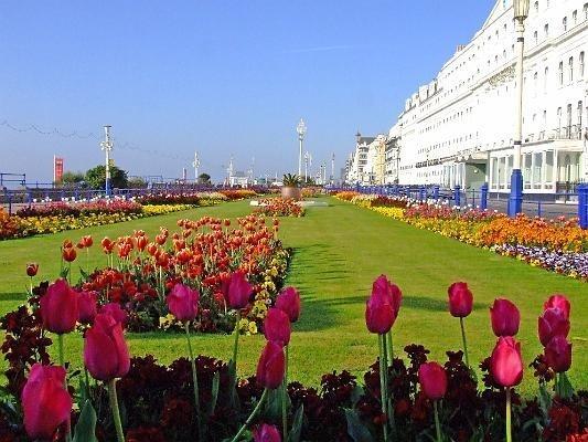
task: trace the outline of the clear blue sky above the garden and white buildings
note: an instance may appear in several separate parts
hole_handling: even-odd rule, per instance
[[[178,177],[256,160],[295,171],[295,127],[336,169],[364,135],[387,131],[405,98],[482,25],[493,0],[0,0],[0,171],[52,177],[114,157],[131,175]],[[132,147],[133,149],[130,149]],[[136,150],[141,149],[141,150]],[[149,151],[149,152],[147,152]]]

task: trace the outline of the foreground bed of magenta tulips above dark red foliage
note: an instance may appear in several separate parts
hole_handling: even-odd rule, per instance
[[[242,305],[236,299],[252,288],[244,283],[231,291],[227,303]],[[167,305],[184,325],[190,357],[162,366],[151,355],[130,358],[124,317],[115,309],[96,312],[94,305],[88,315],[86,295],[73,292],[63,280],[44,283],[31,293],[26,306],[1,320],[9,368],[0,436],[64,441],[71,431],[78,441],[100,442],[279,442],[281,434],[290,442],[585,441],[588,392],[575,391],[566,375],[571,366],[568,299],[554,295],[544,305],[538,336],[545,349],[528,366],[541,394],[523,398],[516,393],[525,370],[515,338],[521,325],[516,306],[507,299],[494,302],[490,319],[496,344],[480,364],[483,376],[478,380],[463,328],[473,295],[462,282],[452,284],[448,295],[449,313],[462,326],[463,351],[447,351],[442,365],[429,360],[420,345],[405,347],[405,359],[395,355],[389,344],[403,294],[382,275],[365,309],[379,358],[360,379],[333,371],[316,389],[287,381],[286,355],[297,338],[291,323],[300,315],[293,287],[279,295],[263,324],[266,345],[256,375],[238,380],[238,333],[228,364],[192,356],[197,291],[180,282],[171,290]],[[47,349],[55,335],[74,333],[76,323],[87,371],[66,377],[63,356],[58,366],[50,366]],[[56,341],[63,355],[64,340]],[[89,382],[89,376],[96,381]],[[73,408],[72,394],[78,407]]]

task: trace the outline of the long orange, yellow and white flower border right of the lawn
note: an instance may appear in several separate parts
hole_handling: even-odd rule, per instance
[[[335,197],[419,229],[588,282],[588,231],[580,229],[576,219],[545,220],[525,214],[509,218],[488,210],[458,210],[406,198],[350,198],[350,193]]]

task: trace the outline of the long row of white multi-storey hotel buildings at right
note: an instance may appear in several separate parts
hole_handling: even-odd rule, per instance
[[[406,99],[387,134],[357,137],[348,160],[348,182],[463,189],[488,182],[491,192],[510,192],[516,90],[513,15],[512,0],[498,0],[473,39],[458,46],[437,77]],[[521,159],[527,194],[573,191],[588,181],[587,52],[587,0],[531,1]]]

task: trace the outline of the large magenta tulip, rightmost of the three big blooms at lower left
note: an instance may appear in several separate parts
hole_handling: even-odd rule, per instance
[[[109,381],[121,378],[130,368],[122,326],[110,315],[98,314],[84,339],[84,365],[93,378]]]

